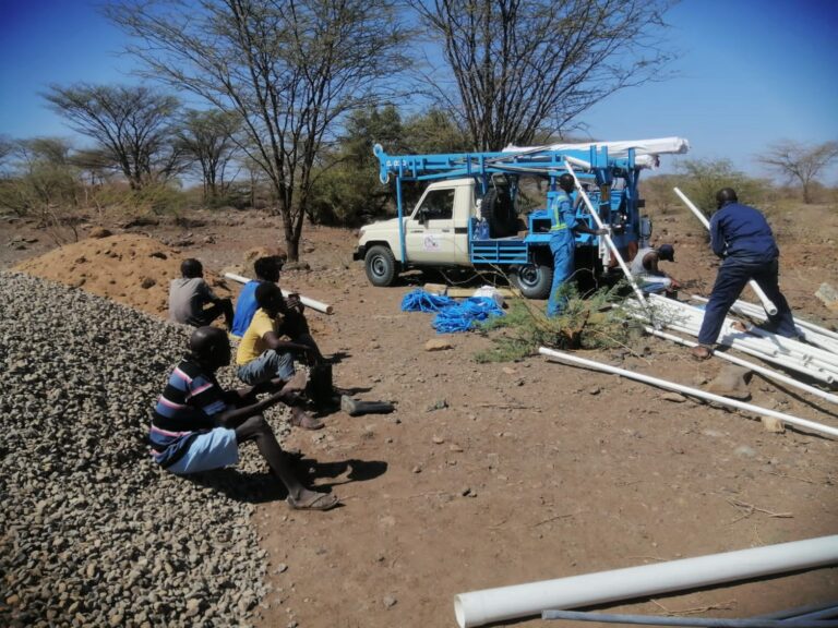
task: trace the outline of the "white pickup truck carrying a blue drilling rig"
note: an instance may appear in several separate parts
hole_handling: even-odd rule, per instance
[[[636,146],[644,143],[657,143],[660,153],[683,153],[687,146],[684,140],[666,138],[627,147],[607,143],[391,157],[376,145],[381,181],[396,177],[398,216],[361,228],[354,257],[363,259],[374,286],[392,286],[399,273],[411,268],[470,268],[503,273],[525,297],[544,299],[553,273],[550,215],[542,208],[531,212],[526,224],[522,220],[515,209],[519,178],[547,179],[549,207],[556,179],[566,162],[573,164],[600,219],[611,227],[612,240],[625,252],[641,235],[639,171],[650,158],[657,159],[648,146],[637,154]],[[410,212],[404,208],[403,181],[429,181]],[[582,206],[578,217],[590,225]],[[579,233],[576,245],[578,264],[595,269],[609,265],[609,251],[597,237]]]

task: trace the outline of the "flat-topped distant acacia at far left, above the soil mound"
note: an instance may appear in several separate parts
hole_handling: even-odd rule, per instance
[[[44,97],[70,126],[98,144],[132,190],[178,173],[169,142],[179,101],[144,85],[50,85]]]

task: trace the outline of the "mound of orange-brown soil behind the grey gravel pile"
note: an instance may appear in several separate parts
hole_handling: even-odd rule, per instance
[[[180,277],[180,263],[188,256],[153,238],[119,234],[61,246],[19,264],[15,270],[166,317],[169,282]],[[218,275],[205,268],[204,278],[218,297],[232,295]]]

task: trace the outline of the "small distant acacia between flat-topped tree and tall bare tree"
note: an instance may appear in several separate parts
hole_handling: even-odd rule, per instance
[[[213,201],[227,190],[225,174],[236,156],[234,136],[239,126],[238,118],[228,112],[189,109],[176,132],[184,157],[201,168],[204,201]]]

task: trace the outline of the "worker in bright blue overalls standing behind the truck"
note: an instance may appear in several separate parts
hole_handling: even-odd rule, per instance
[[[553,285],[550,287],[550,300],[547,302],[547,315],[558,316],[567,305],[567,299],[559,295],[559,288],[574,270],[576,233],[604,235],[607,229],[591,229],[584,221],[576,220],[571,192],[574,180],[570,174],[559,177],[559,193],[550,206],[550,252],[553,254]]]

